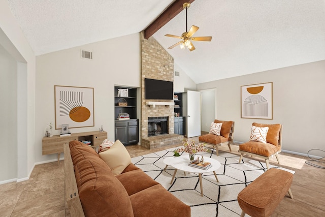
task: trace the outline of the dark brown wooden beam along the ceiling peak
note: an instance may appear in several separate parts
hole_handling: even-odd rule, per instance
[[[159,28],[163,27],[166,23],[176,17],[183,11],[184,3],[192,3],[194,0],[176,0],[169,8],[167,8],[157,19],[155,19],[146,29],[144,29],[144,38],[149,39],[150,36],[155,34]]]

